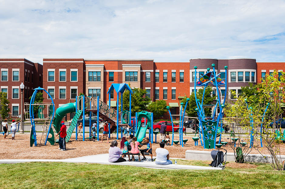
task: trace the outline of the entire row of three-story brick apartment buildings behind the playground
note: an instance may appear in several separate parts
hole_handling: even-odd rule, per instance
[[[245,58],[197,58],[190,59],[189,62],[154,62],[153,59],[45,58],[43,66],[26,59],[1,59],[0,63],[1,91],[8,91],[11,112],[15,114],[19,112],[19,85],[22,81],[25,84],[24,94],[27,93],[24,102],[29,102],[32,89],[43,86],[53,97],[56,108],[74,102],[75,96],[80,93],[99,96],[107,103],[107,91],[112,83],[130,83],[131,87],[147,90],[147,96],[153,101],[166,100],[172,107],[172,113],[176,114],[179,111],[180,100],[194,91],[194,66],[197,66],[197,71],[201,73],[206,73],[207,68],[212,70],[212,64],[215,64],[215,70],[218,73],[224,72],[224,67],[228,66],[228,89],[235,91],[236,94],[240,93],[241,87],[247,86],[248,83],[259,83],[265,74],[270,74],[274,69],[285,70],[285,63],[256,63],[256,59]],[[17,79],[15,75],[17,71],[19,71],[19,79],[14,81],[12,76],[14,74]],[[16,89],[18,89],[18,96]],[[219,92],[222,93],[223,98],[225,88],[220,87]],[[46,94],[43,97],[44,102],[50,102]],[[230,97],[234,100],[233,96]],[[116,99],[117,95],[111,93],[111,106],[116,107]],[[67,119],[70,116],[72,115],[67,115]]]

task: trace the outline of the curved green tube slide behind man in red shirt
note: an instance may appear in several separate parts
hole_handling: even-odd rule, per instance
[[[62,106],[60,106],[58,109],[56,109],[56,115],[53,119],[53,127],[58,133],[61,127],[61,120],[63,117],[68,114],[76,112],[76,103],[67,103]]]

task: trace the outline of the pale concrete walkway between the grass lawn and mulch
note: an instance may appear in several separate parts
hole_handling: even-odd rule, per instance
[[[136,157],[137,158],[137,157]],[[155,157],[153,157],[155,158]],[[194,165],[156,165],[150,157],[142,161],[128,161],[121,163],[111,163],[108,161],[108,154],[88,155],[79,158],[69,159],[2,159],[0,163],[25,163],[25,162],[69,162],[69,163],[98,163],[105,165],[132,165],[137,167],[154,168],[154,169],[196,169],[196,170],[220,170],[221,168],[203,167]]]

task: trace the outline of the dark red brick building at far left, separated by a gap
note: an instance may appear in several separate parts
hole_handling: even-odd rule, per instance
[[[21,89],[20,84],[25,85],[23,91],[23,103],[29,103],[33,89],[42,87],[42,65],[25,58],[1,58],[1,92],[7,93],[10,101],[9,108],[14,116],[21,114]]]

